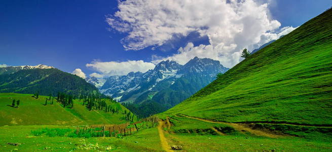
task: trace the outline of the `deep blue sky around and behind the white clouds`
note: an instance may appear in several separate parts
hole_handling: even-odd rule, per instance
[[[332,1],[326,0],[304,0],[301,3],[286,0],[259,1],[257,4],[264,2],[269,3],[270,20],[277,20],[281,23],[278,28],[275,28],[276,31],[271,33],[280,32],[279,29],[282,27],[300,26],[332,6]],[[117,19],[114,16],[107,16],[114,15],[117,11],[119,11],[117,1],[1,1],[0,64],[46,64],[66,72],[80,68],[87,75],[92,72],[103,74],[105,71],[100,69],[101,67],[87,67],[86,64],[93,61],[95,61],[94,63],[127,62],[129,60],[157,62],[177,54],[180,47],[185,50],[189,42],[193,43],[192,49],[201,44],[204,46],[210,44],[208,35],[199,36],[201,31],[194,30],[186,34],[171,32],[171,39],[159,39],[156,40],[157,42],[152,41],[151,37],[143,37],[144,40],[152,42],[139,44],[143,48],[140,47],[138,50],[125,50],[121,40],[129,32],[120,32],[117,29],[119,25],[112,22],[111,24],[114,25],[112,26],[105,21],[106,18]],[[118,21],[124,22],[123,18]],[[133,24],[131,26],[134,27]],[[137,34],[139,31],[135,32]],[[169,31],[155,36],[167,37],[167,34]],[[125,43],[132,44],[132,41],[135,40],[130,39]],[[258,44],[260,43],[250,44],[250,46]],[[204,49],[208,50],[208,47]],[[181,58],[175,57],[170,59],[181,60]],[[218,59],[227,64],[228,60],[221,57]],[[237,62],[234,61],[234,64]],[[230,66],[232,65],[230,64]],[[114,71],[113,74],[116,72],[119,71]],[[108,74],[110,73],[108,72]]]

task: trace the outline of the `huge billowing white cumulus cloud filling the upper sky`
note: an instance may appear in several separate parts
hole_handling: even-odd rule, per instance
[[[194,47],[189,43],[177,54],[163,58],[180,63],[198,56],[232,67],[241,60],[243,48],[255,49],[294,29],[280,29],[281,23],[269,15],[268,4],[253,0],[127,0],[119,1],[118,8],[106,21],[113,29],[128,33],[121,41],[126,50],[158,47],[174,35],[187,36],[194,31],[208,36],[210,45]]]

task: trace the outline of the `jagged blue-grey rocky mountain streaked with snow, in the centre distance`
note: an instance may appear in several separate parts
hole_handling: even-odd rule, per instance
[[[224,73],[227,70],[228,68],[220,64],[219,61],[208,58],[195,57],[185,65],[167,60],[160,62],[154,69],[145,73],[130,72],[127,75],[109,77],[104,85],[99,88],[99,91],[120,101],[142,102],[153,100],[156,96],[163,96],[161,93],[165,90],[174,90],[172,88],[176,88],[176,86],[172,85],[180,83],[178,81],[189,81],[191,84],[190,91],[186,91],[186,95],[167,105],[167,107],[170,107],[212,82],[217,73]],[[157,102],[164,101],[158,99]]]

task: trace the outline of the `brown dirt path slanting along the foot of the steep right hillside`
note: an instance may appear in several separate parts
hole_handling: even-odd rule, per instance
[[[235,130],[246,131],[246,132],[250,132],[252,134],[259,135],[259,136],[265,136],[265,137],[270,137],[270,138],[282,137],[281,135],[276,135],[276,134],[265,132],[265,131],[261,131],[261,130],[254,130],[254,129],[246,127],[246,126],[244,126],[242,124],[225,123],[225,122],[215,122],[215,121],[211,121],[211,120],[207,120],[207,119],[203,119],[203,118],[190,117],[190,116],[181,115],[181,114],[179,114],[179,116],[177,116],[177,117],[180,117],[180,116],[181,117],[187,117],[187,118],[190,118],[190,119],[196,119],[196,120],[203,121],[203,122],[208,122],[208,123],[227,124],[227,125],[232,126]]]

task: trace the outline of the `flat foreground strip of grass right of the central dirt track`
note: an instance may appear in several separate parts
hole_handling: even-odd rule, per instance
[[[168,134],[180,151],[330,151],[330,142],[307,141],[301,138],[264,138],[248,135],[178,135]]]

